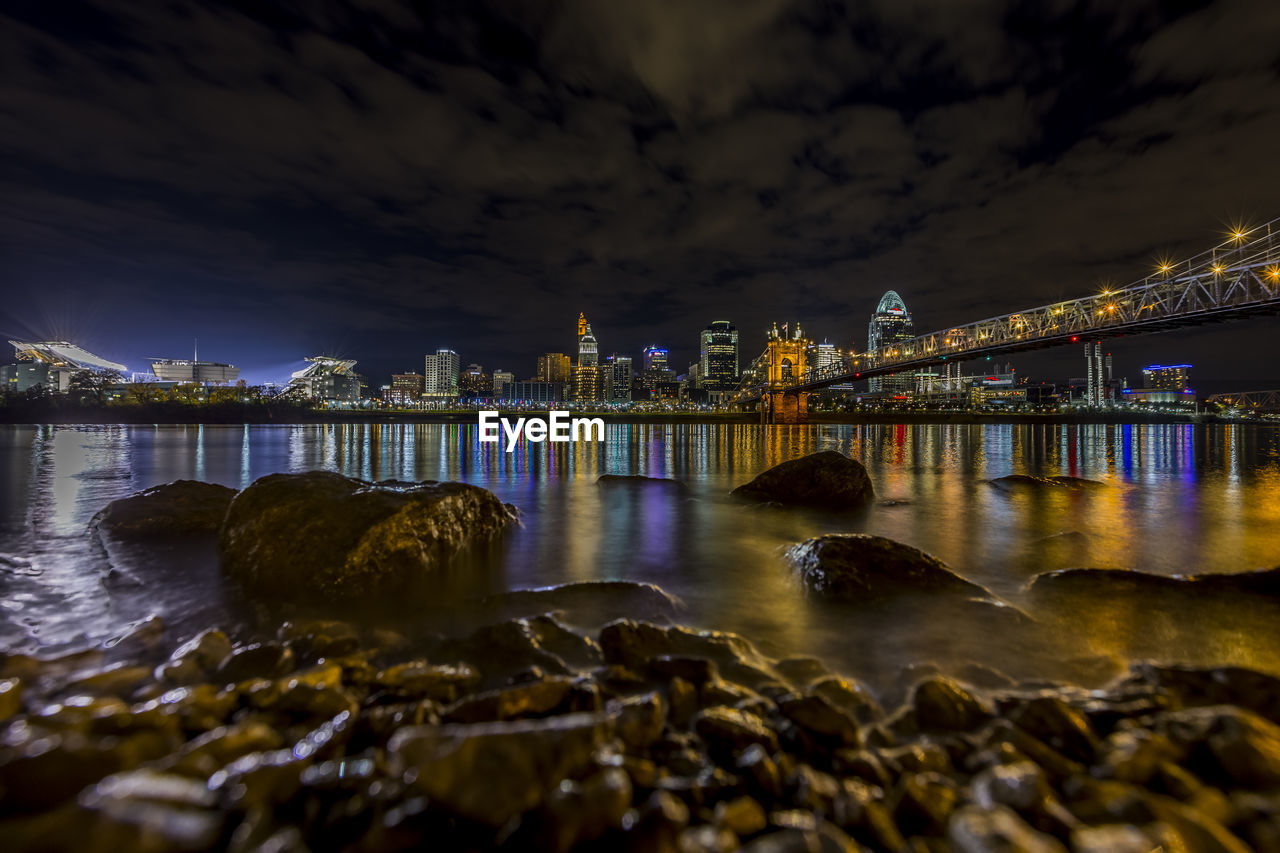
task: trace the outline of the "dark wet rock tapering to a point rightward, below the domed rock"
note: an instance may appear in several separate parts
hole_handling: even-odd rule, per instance
[[[827,534],[787,551],[804,588],[828,601],[868,602],[902,593],[995,597],[911,546],[865,533]]]

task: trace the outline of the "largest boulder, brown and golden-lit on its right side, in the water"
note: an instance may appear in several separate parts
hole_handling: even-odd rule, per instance
[[[252,594],[344,601],[443,576],[513,520],[512,507],[466,483],[271,474],[232,502],[219,544]]]

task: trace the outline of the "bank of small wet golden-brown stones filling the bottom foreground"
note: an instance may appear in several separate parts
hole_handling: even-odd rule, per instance
[[[340,621],[0,663],[8,850],[1274,850],[1280,680],[919,681],[737,635]]]

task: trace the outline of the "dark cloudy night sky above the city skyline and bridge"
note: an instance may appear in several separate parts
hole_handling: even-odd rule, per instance
[[[681,370],[719,318],[861,348],[887,288],[923,333],[1280,216],[1277,46],[1272,0],[10,0],[0,333],[375,386],[579,311]],[[1280,387],[1277,323],[1107,348]]]

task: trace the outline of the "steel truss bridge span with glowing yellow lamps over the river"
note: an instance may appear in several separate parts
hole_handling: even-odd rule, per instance
[[[819,370],[780,377],[769,369],[767,347],[742,371],[730,401],[744,403],[777,392],[820,391],[950,361],[1275,313],[1280,313],[1280,219],[1238,229],[1226,242],[1185,261],[1162,263],[1152,275],[1128,287],[897,341]],[[769,342],[769,347],[774,345]]]

